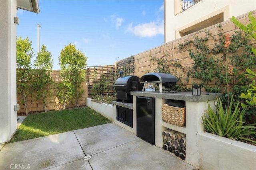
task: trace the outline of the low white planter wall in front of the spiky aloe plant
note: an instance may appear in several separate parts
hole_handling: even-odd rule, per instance
[[[255,170],[256,146],[211,133],[197,134],[200,170]]]

